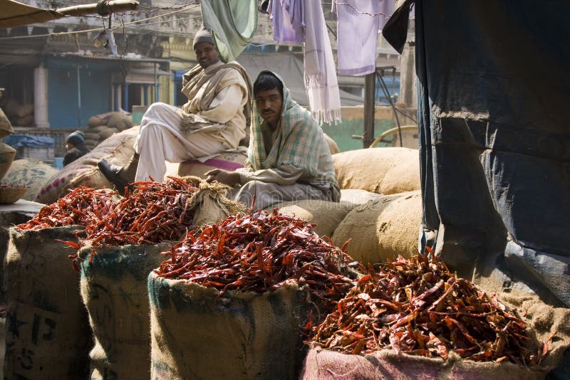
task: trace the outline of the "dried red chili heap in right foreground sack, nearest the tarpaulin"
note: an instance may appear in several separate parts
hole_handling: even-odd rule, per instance
[[[398,257],[370,268],[336,310],[314,327],[311,342],[368,354],[380,349],[447,359],[451,350],[475,361],[537,363],[525,323],[496,295],[456,278],[439,258]]]

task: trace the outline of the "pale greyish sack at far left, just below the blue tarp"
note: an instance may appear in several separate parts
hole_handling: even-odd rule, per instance
[[[58,171],[58,169],[38,159],[16,159],[12,162],[2,181],[27,187],[28,191],[21,198],[26,199],[26,201],[33,201],[43,185]]]

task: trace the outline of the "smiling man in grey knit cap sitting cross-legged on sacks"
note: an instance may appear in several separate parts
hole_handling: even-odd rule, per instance
[[[246,136],[251,113],[251,82],[236,61],[222,63],[209,30],[202,27],[194,38],[198,65],[185,73],[182,93],[188,102],[182,110],[157,102],[140,122],[135,154],[125,167],[106,160],[98,163],[105,177],[123,191],[133,181],[162,182],[165,161],[207,159],[236,149]]]

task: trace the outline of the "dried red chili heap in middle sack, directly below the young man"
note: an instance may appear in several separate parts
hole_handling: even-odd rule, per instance
[[[296,280],[331,307],[355,285],[348,277],[350,257],[312,228],[276,210],[228,216],[199,236],[188,234],[165,252],[171,257],[155,273],[222,291],[266,292]]]

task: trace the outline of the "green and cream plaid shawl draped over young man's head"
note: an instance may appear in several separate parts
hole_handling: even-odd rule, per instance
[[[283,79],[274,73],[281,83]],[[276,169],[291,164],[304,168],[312,176],[317,174],[318,157],[321,151],[323,132],[311,112],[291,99],[289,89],[283,85],[283,109],[279,120],[279,133],[269,154],[265,152],[261,122],[254,102],[252,134],[249,139],[247,158],[254,171]]]

